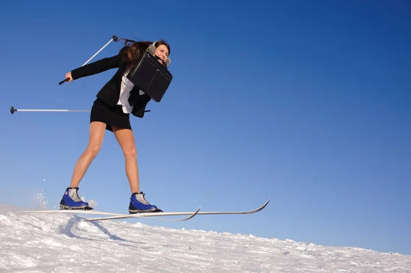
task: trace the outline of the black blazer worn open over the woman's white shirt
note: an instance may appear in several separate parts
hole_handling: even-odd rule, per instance
[[[110,79],[110,81],[105,83],[103,88],[101,88],[101,90],[97,93],[97,98],[101,99],[101,101],[104,101],[108,105],[114,106],[119,101],[121,78],[125,73],[125,68],[127,68],[127,65],[122,61],[121,55],[105,57],[96,62],[75,68],[74,70],[71,70],[71,77],[73,78],[73,80],[75,80],[82,77],[95,75],[112,68],[119,69],[116,71],[116,74],[114,74],[114,76]],[[147,96],[147,94],[140,95],[139,91],[140,88],[134,86],[134,88],[130,91],[128,101],[130,106],[133,106],[132,114],[134,116],[142,118],[145,113],[145,107],[147,106],[147,103],[151,101],[151,98]]]

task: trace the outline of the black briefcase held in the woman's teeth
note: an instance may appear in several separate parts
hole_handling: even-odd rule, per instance
[[[173,75],[157,57],[145,51],[128,73],[127,79],[159,103],[169,88]]]

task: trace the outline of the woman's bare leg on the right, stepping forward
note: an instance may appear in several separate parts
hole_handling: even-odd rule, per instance
[[[123,150],[125,157],[125,173],[129,180],[130,190],[140,192],[140,185],[138,181],[138,166],[137,166],[137,149],[134,142],[134,134],[130,129],[121,129],[119,127],[112,127],[114,135]]]

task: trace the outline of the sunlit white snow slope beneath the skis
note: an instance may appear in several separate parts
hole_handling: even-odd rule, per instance
[[[398,253],[21,210],[0,205],[0,272],[411,273]]]

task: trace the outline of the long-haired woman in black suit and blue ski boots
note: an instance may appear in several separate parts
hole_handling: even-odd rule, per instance
[[[73,171],[69,187],[66,188],[60,209],[92,209],[78,195],[79,183],[88,170],[91,162],[99,153],[105,130],[112,131],[119,142],[125,156],[125,170],[129,181],[132,197],[129,213],[145,211],[161,211],[155,205],[145,200],[145,194],[140,192],[138,181],[137,151],[134,135],[129,122],[129,114],[142,118],[145,107],[151,100],[147,94],[134,87],[127,79],[127,73],[138,57],[149,51],[158,58],[164,66],[171,62],[169,59],[170,46],[164,40],[156,42],[125,40],[125,47],[118,55],[106,57],[66,73],[65,79],[73,81],[101,73],[111,68],[119,68],[115,75],[97,93],[90,114],[90,136],[86,151],[79,157]]]

